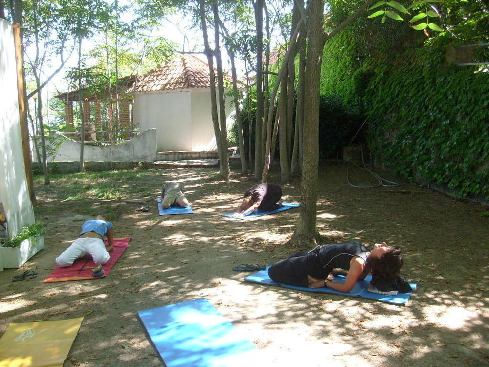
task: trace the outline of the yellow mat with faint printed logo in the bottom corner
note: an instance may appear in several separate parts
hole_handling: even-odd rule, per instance
[[[0,367],[62,367],[82,321],[11,323],[0,339]]]

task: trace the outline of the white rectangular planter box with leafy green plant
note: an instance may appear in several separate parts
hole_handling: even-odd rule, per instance
[[[3,268],[19,268],[44,248],[44,227],[40,221],[26,225],[12,238],[2,238],[0,244]]]

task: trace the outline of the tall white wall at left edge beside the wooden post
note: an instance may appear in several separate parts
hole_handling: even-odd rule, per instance
[[[12,236],[34,223],[22,152],[12,24],[0,19],[0,202]],[[1,267],[1,258],[0,258]]]

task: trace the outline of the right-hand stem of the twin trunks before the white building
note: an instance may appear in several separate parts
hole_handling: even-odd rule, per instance
[[[227,152],[227,125],[226,125],[226,102],[224,98],[224,77],[222,72],[221,47],[219,43],[219,9],[216,1],[212,2],[214,13],[214,54],[216,56],[217,83],[219,92],[219,117],[221,122],[221,150],[219,170],[221,177],[229,180],[229,154]],[[221,158],[222,157],[222,158]]]

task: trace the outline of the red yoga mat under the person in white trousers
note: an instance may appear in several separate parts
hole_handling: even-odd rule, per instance
[[[110,253],[111,258],[107,264],[102,265],[105,273],[97,278],[93,277],[92,270],[88,267],[95,266],[91,256],[85,256],[81,259],[76,260],[73,265],[66,268],[61,268],[59,266],[54,269],[54,271],[49,275],[43,283],[54,283],[54,282],[66,282],[71,280],[91,280],[105,278],[112,270],[115,262],[122,256],[124,251],[126,251],[131,238],[114,238],[114,248]],[[105,240],[107,243],[107,240]]]

